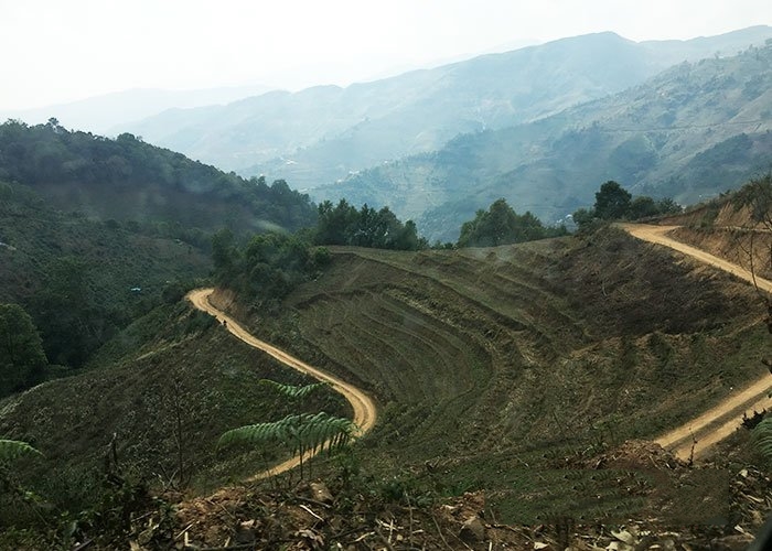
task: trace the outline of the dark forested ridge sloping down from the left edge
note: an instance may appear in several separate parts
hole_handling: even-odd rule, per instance
[[[212,231],[313,225],[307,195],[192,161],[124,133],[111,140],[51,119],[0,125],[0,181],[28,184],[62,210]]]

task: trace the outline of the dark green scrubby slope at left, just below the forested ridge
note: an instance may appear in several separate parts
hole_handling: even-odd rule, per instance
[[[187,236],[65,214],[0,182],[0,303],[30,313],[52,364],[82,367],[135,317],[176,300],[181,281],[208,273],[207,244]]]

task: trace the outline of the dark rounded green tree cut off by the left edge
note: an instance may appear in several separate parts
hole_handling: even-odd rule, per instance
[[[30,315],[19,304],[0,304],[0,397],[41,382],[47,364]]]

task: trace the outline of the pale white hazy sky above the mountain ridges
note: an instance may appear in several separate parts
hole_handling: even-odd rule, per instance
[[[129,88],[346,85],[599,31],[772,24],[772,0],[0,0],[0,109]]]

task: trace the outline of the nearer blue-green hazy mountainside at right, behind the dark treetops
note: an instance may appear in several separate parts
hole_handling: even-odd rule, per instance
[[[313,191],[389,205],[427,237],[504,197],[551,223],[591,205],[607,180],[694,203],[772,163],[772,44],[683,63],[645,84],[529,125],[467,134]]]

